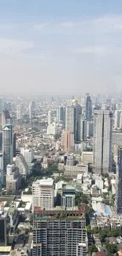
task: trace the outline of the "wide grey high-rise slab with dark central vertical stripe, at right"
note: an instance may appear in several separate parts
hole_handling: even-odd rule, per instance
[[[95,173],[112,170],[113,112],[94,110],[93,167]]]

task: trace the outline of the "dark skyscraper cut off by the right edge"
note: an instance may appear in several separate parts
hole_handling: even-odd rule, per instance
[[[116,165],[116,213],[122,214],[122,147],[118,147],[117,165]]]

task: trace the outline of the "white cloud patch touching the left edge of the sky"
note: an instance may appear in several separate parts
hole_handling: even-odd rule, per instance
[[[24,50],[30,50],[33,47],[33,42],[0,38],[1,54],[17,54],[23,52]]]

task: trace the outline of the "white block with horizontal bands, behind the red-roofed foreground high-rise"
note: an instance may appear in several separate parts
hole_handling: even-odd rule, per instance
[[[36,180],[32,184],[32,210],[35,206],[42,209],[54,207],[54,180]]]

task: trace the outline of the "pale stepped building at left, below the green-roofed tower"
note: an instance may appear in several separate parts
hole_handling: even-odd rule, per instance
[[[15,165],[7,165],[6,168],[6,191],[19,191],[21,187],[21,176]]]

